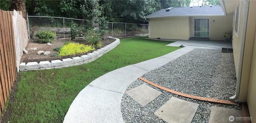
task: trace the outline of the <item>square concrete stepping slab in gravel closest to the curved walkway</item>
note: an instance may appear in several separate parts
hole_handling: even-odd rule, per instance
[[[142,106],[146,106],[148,103],[156,99],[162,92],[149,87],[148,85],[142,84],[138,87],[126,91],[126,93],[132,97],[135,101],[140,103]]]

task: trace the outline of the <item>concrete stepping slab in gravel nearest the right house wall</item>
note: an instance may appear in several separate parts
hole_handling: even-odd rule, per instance
[[[242,110],[212,107],[209,123],[243,123],[241,119],[236,119],[236,117],[243,117]]]

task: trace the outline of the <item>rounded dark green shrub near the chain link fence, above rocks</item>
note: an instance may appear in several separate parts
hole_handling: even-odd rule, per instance
[[[39,39],[39,43],[52,43],[55,35],[50,31],[39,31],[35,36]]]

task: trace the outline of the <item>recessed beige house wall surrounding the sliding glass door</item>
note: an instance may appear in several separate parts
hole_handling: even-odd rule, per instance
[[[223,40],[224,33],[232,33],[233,15],[228,16],[190,16],[189,36],[194,37],[194,18],[210,18],[210,38],[209,40]]]

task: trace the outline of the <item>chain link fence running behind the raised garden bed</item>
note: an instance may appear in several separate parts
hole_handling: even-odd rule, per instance
[[[39,31],[52,31],[56,33],[55,38],[70,38],[71,22],[76,22],[78,27],[84,27],[84,21],[74,18],[28,16],[29,38],[34,39],[34,35]],[[148,24],[130,23],[108,23],[108,33],[105,36],[122,38],[135,36],[137,34],[148,34]],[[78,32],[77,37],[83,35]]]

